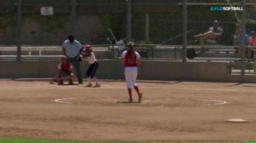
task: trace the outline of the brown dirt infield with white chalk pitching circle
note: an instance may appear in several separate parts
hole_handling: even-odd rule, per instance
[[[0,136],[44,139],[256,140],[256,85],[122,81],[101,88],[0,80]],[[137,96],[134,93],[134,100]],[[247,123],[226,123],[230,118]]]

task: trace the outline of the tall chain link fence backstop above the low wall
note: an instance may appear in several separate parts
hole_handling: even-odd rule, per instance
[[[20,39],[17,36],[18,1],[22,3]],[[124,43],[128,42],[127,31],[130,30],[132,41],[140,45],[143,58],[181,59],[181,47],[184,44],[183,1],[133,0],[131,27],[127,24],[128,2],[2,0],[0,32],[3,36],[0,45],[16,45],[20,40],[20,45],[58,47],[68,34],[75,34],[82,44],[97,35],[94,45],[115,45],[120,39],[123,39]],[[255,1],[246,0],[246,34],[249,36],[256,30],[255,5]],[[53,15],[42,15],[42,7],[52,7]],[[202,46],[195,35],[206,33],[214,25],[214,20],[219,22],[219,27],[223,30],[222,35],[215,42],[205,45],[234,46],[233,36],[237,30],[236,23],[241,23],[242,11],[222,10],[223,7],[241,8],[241,0],[187,0],[188,47]]]

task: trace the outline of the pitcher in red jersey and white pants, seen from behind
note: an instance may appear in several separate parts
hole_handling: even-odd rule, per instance
[[[140,55],[135,51],[133,42],[128,43],[127,50],[122,53],[121,59],[125,66],[124,75],[125,80],[127,81],[129,103],[132,103],[132,88],[135,88],[136,92],[138,93],[138,102],[141,103],[142,93],[140,93],[140,89],[136,83],[138,75],[138,64],[140,63]]]

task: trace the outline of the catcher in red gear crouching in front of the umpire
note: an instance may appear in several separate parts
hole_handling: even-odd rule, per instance
[[[72,73],[72,65],[67,62],[68,58],[66,55],[61,57],[61,63],[59,63],[58,69],[59,74],[56,75],[54,82],[58,82],[58,85],[64,85],[62,77],[69,77],[69,85],[74,85],[73,81],[75,79],[75,75]]]

